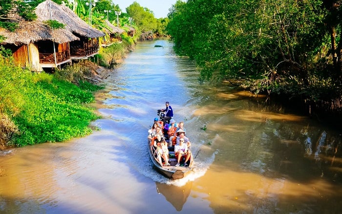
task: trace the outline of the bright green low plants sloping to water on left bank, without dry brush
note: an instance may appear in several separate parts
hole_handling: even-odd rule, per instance
[[[40,75],[40,74],[37,74]],[[89,124],[99,118],[83,104],[94,101],[94,86],[83,88],[52,78],[38,81],[22,94],[25,105],[13,117],[20,134],[13,144],[25,146],[44,142],[62,142],[91,133]]]

